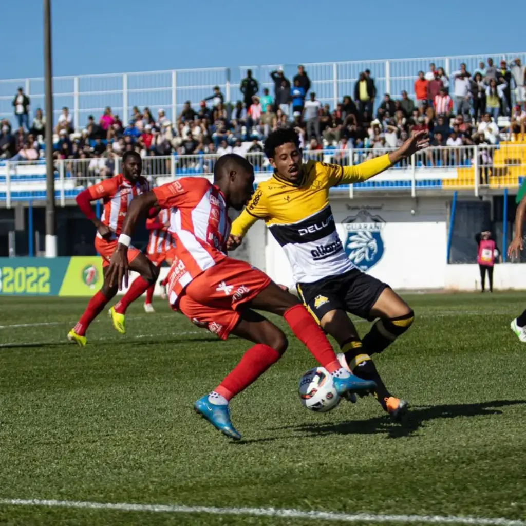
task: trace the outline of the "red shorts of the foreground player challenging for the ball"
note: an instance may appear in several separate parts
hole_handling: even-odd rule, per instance
[[[225,258],[190,282],[174,310],[226,340],[239,321],[239,307],[254,299],[270,281],[245,261]]]

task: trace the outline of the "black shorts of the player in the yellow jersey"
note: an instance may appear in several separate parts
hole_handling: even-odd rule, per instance
[[[300,299],[319,321],[327,312],[341,309],[372,321],[371,309],[389,285],[353,268],[345,274],[322,278],[313,283],[298,283]]]

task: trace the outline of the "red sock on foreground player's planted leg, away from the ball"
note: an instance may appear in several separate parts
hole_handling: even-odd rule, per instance
[[[230,400],[259,378],[280,356],[276,349],[257,343],[245,352],[238,365],[214,391]]]

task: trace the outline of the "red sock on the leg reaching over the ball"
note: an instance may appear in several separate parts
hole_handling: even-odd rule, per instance
[[[340,369],[340,363],[329,340],[303,305],[291,307],[283,317],[296,338],[305,344],[322,367],[325,367],[329,372]]]

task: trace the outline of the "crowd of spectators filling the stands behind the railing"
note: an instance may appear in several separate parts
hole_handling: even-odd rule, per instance
[[[360,73],[352,96],[346,95],[335,108],[322,104],[311,89],[311,79],[298,66],[292,82],[282,70],[270,73],[272,93],[260,89],[247,70],[240,84],[242,100],[230,104],[216,86],[195,109],[188,100],[175,122],[164,109],[157,114],[149,108],[134,107],[123,120],[110,107],[98,117],[90,115],[84,128],[73,122],[64,107],[54,128],[56,159],[90,159],[92,173],[112,175],[116,159],[126,150],[141,156],[175,154],[218,156],[230,151],[250,156],[255,165],[266,163],[261,141],[282,126],[293,126],[308,155],[326,149],[341,151],[367,149],[366,156],[380,155],[402,144],[412,130],[427,130],[433,146],[494,145],[502,129],[499,116],[507,116],[507,130],[524,138],[526,112],[526,72],[519,58],[511,68],[502,60],[500,67],[488,58],[487,64],[470,73],[465,64],[449,76],[444,68],[429,65],[414,80],[414,100],[402,91],[401,98],[377,93],[369,69]],[[194,101],[195,103],[195,101]],[[17,127],[4,119],[1,124],[0,157],[36,160],[43,154],[45,119],[37,109],[29,122],[31,100],[22,88],[13,100]],[[375,113],[376,109],[376,113]],[[321,153],[319,154],[321,155]],[[443,156],[431,150],[427,162],[459,163],[459,152]],[[156,169],[164,173],[168,164],[159,159]],[[86,163],[84,163],[86,164]]]

